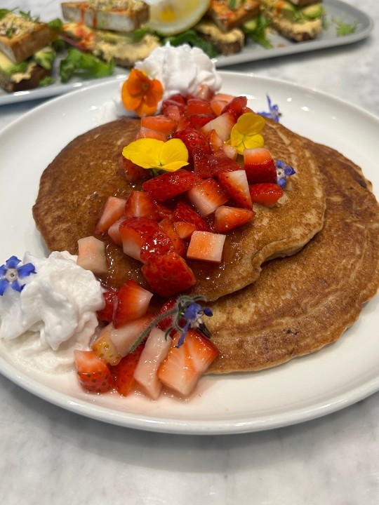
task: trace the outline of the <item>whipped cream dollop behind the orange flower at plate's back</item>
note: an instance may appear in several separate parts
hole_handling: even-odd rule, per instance
[[[152,50],[145,60],[136,62],[135,68],[145,72],[150,79],[161,81],[164,88],[161,102],[175,93],[193,95],[200,84],[206,84],[214,93],[222,85],[221,76],[211,58],[200,48],[192,48],[188,44],[171,46],[168,42],[165,46]],[[107,123],[121,116],[135,116],[121,102],[121,87],[117,96],[100,108],[98,123]],[[158,113],[161,102],[158,104]]]

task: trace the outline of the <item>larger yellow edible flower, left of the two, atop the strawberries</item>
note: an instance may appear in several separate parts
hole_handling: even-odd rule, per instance
[[[142,168],[175,172],[188,165],[188,151],[180,139],[167,142],[153,138],[141,138],[122,150],[124,158]]]

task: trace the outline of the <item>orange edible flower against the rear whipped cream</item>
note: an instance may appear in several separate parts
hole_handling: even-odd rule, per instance
[[[121,88],[121,100],[124,107],[138,116],[152,116],[164,94],[164,88],[158,79],[149,79],[141,70],[132,69]]]

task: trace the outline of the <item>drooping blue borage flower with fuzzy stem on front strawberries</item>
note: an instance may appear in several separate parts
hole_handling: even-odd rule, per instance
[[[166,338],[173,330],[177,330],[181,332],[181,335],[178,340],[178,344],[175,347],[182,346],[185,341],[185,335],[187,335],[187,331],[190,328],[195,328],[199,332],[201,332],[205,337],[211,338],[211,332],[209,332],[208,328],[202,319],[202,316],[213,316],[212,309],[208,307],[202,308],[198,303],[201,300],[204,300],[203,297],[190,297],[187,295],[181,295],[176,299],[175,305],[172,309],[162,312],[154,318],[154,320],[145,328],[145,330],[141,333],[140,337],[131,347],[129,352],[133,352],[141,342],[149,335],[149,332],[156,326],[160,321],[166,319],[167,317],[171,317],[172,324],[166,330]]]

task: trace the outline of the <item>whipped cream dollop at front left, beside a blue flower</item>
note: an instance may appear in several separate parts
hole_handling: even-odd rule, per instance
[[[39,356],[39,365],[54,368],[53,354],[73,363],[73,349],[88,346],[104,301],[99,281],[76,260],[67,251],[25,254],[22,263],[32,263],[36,273],[22,279],[21,292],[9,287],[0,297],[0,337],[14,343],[15,357]]]

